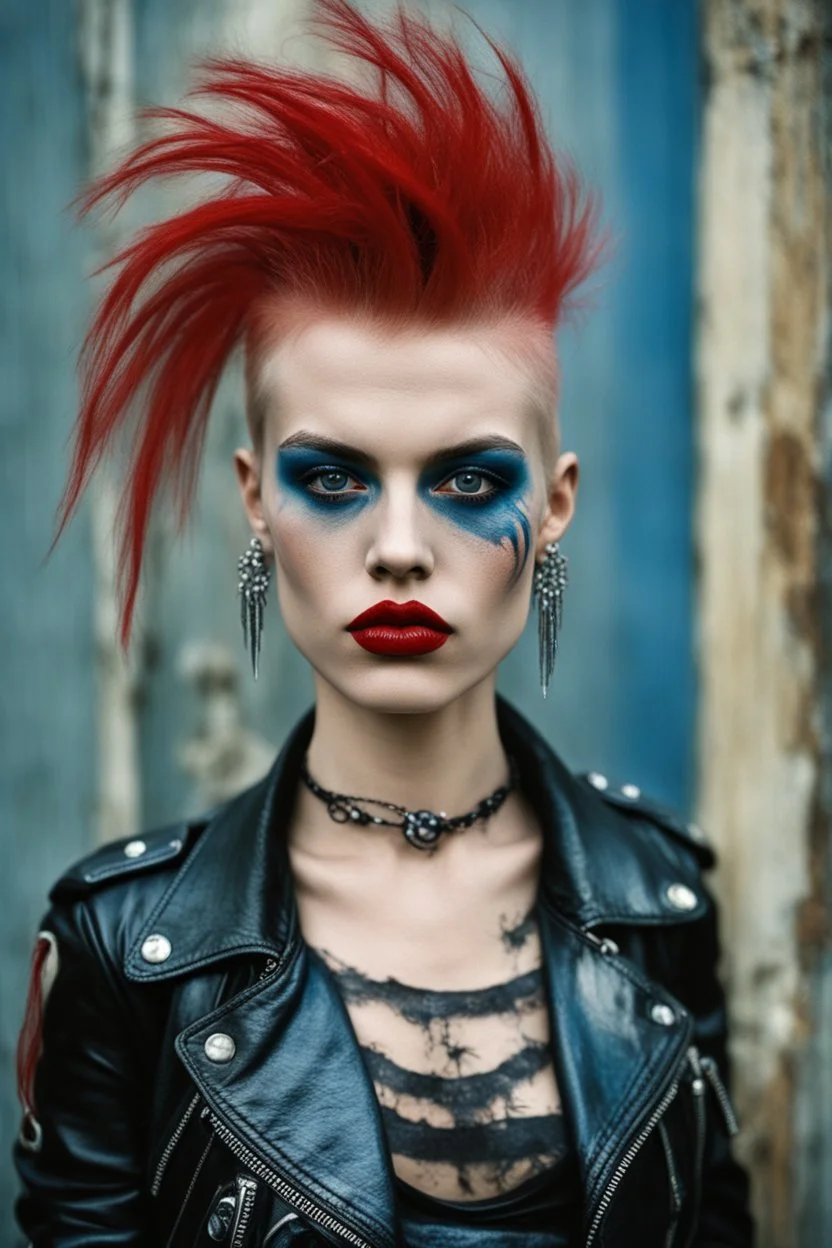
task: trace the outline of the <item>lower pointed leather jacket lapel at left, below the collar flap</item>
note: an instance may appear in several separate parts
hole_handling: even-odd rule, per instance
[[[233,1061],[205,1042],[233,1037]],[[297,1193],[378,1248],[395,1243],[393,1174],[373,1085],[349,1018],[301,942],[288,965],[177,1038],[211,1108]]]

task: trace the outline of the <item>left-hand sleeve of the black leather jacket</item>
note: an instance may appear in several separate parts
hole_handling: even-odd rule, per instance
[[[17,1222],[31,1248],[148,1248],[150,1097],[127,987],[86,899],[56,901],[41,929],[57,968],[32,1055],[34,1122],[14,1146]]]

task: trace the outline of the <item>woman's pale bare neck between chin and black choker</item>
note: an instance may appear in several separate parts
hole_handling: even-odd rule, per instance
[[[307,763],[324,789],[394,801],[408,810],[443,810],[453,817],[508,779],[494,676],[438,710],[413,713],[359,706],[322,680],[317,685]],[[306,786],[299,801],[303,825],[312,822],[324,835],[344,835]],[[379,811],[373,807],[372,812]],[[389,835],[390,829],[364,831],[377,836]]]

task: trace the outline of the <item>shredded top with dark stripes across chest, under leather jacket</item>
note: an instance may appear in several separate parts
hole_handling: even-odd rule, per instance
[[[503,938],[518,973],[457,991],[370,978],[318,950],[375,1087],[413,1248],[570,1243],[580,1182],[534,914]]]

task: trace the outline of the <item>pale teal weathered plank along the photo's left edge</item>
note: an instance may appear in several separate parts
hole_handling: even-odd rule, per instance
[[[86,243],[64,208],[84,158],[74,6],[0,15],[0,1243],[14,1246],[12,1055],[49,884],[92,827],[89,525],[41,567],[76,408]]]

